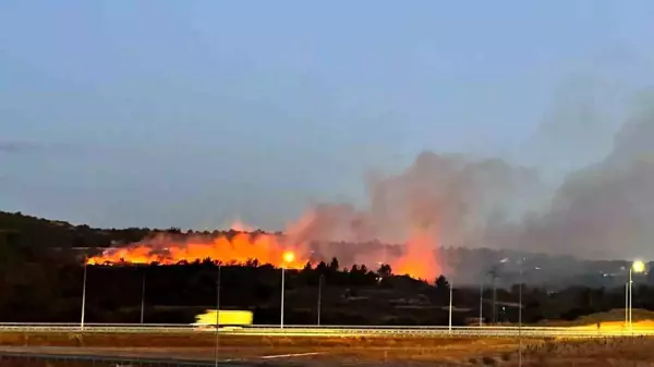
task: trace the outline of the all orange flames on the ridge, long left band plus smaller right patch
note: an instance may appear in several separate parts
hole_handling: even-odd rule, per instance
[[[290,240],[293,236],[264,232],[234,232],[218,236],[159,234],[125,247],[106,249],[100,255],[88,258],[86,264],[177,265],[209,259],[223,265],[246,265],[256,260],[259,265],[269,264],[278,268],[302,269],[307,262],[316,266],[319,260],[328,261],[332,256],[338,258],[338,254],[327,254],[328,258],[316,260],[311,256],[310,246],[305,243],[294,243]],[[367,262],[364,264],[378,261],[371,259]],[[414,233],[405,242],[403,255],[387,259],[387,262],[396,274],[408,274],[428,281],[433,281],[439,270],[431,247],[431,237],[425,234]],[[352,265],[342,264],[347,268]]]

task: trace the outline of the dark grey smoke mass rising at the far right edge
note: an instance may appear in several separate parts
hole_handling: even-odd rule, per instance
[[[585,258],[654,256],[653,112],[637,111],[604,160],[569,174],[548,210],[513,231],[513,245]]]

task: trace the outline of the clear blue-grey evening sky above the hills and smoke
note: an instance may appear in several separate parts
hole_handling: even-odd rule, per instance
[[[547,129],[577,129],[554,150],[579,164],[608,149],[615,126],[590,139],[576,124],[588,115],[568,105],[578,90],[651,79],[653,11],[647,0],[3,0],[0,210],[278,230],[312,203],[364,205],[368,170],[401,170],[423,150],[570,169],[543,154],[552,146],[523,149]]]

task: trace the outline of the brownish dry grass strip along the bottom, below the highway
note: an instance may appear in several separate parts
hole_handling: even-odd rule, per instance
[[[0,344],[28,346],[31,352],[110,354],[114,356],[211,359],[215,335],[185,334],[0,334]],[[654,338],[585,341],[524,341],[523,366],[654,366]],[[80,347],[84,346],[84,347]],[[263,363],[265,355],[318,353],[290,359],[270,359],[284,366],[517,366],[514,339],[438,338],[220,338],[222,359]]]

